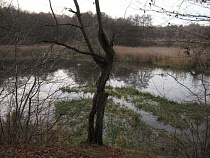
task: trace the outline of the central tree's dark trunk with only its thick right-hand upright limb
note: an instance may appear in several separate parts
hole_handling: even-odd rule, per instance
[[[106,55],[102,58],[93,56],[93,59],[99,65],[101,72],[98,81],[96,82],[96,93],[93,97],[92,109],[89,115],[87,141],[89,143],[103,145],[103,118],[106,100],[108,98],[108,93],[105,93],[105,85],[109,79],[115,52],[113,45],[109,42],[103,30],[99,0],[95,0],[95,4],[99,26],[98,39]]]

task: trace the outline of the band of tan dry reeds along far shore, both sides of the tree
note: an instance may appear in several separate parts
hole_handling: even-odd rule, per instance
[[[85,51],[85,48],[82,48]],[[210,48],[195,47],[184,49],[182,47],[124,47],[114,46],[115,61],[150,63],[156,66],[176,68],[205,68],[210,67]],[[188,52],[187,52],[188,51]],[[77,54],[63,46],[58,45],[33,45],[33,46],[1,46],[4,59],[29,59],[59,57],[64,59],[91,59],[86,55]],[[102,50],[97,50],[103,53]],[[186,53],[187,52],[187,53]]]

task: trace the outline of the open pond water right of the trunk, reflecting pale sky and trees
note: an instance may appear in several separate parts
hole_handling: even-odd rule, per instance
[[[162,69],[124,63],[116,64],[109,84],[112,86],[133,86],[143,92],[150,92],[178,102],[204,101],[204,87],[201,76],[193,76],[182,70]],[[122,70],[123,69],[123,70]],[[126,69],[126,70],[125,70]],[[210,77],[205,76],[207,94]],[[207,96],[209,103],[210,96]]]

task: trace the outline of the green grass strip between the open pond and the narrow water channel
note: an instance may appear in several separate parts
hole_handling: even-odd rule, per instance
[[[79,91],[84,93],[94,93],[96,88],[94,85],[86,85],[73,89],[63,88],[62,91],[69,93]],[[136,108],[152,112],[154,115],[158,116],[158,121],[180,129],[189,128],[189,125],[187,125],[186,122],[191,122],[196,126],[199,126],[205,121],[205,115],[203,115],[205,113],[205,108],[203,105],[197,103],[180,104],[164,97],[140,92],[133,87],[113,88],[109,86],[106,88],[106,91],[111,97],[124,99],[127,102],[133,103]],[[107,107],[109,107],[109,104]],[[113,109],[113,107],[111,108]],[[116,111],[113,111],[113,113],[116,113]],[[119,114],[118,111],[118,115]]]

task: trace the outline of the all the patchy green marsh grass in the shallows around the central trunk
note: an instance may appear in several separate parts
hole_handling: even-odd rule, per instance
[[[77,88],[62,88],[68,93],[93,93],[93,85]],[[104,117],[104,142],[106,145],[121,149],[141,151],[152,155],[183,156],[185,152],[192,154],[191,136],[202,134],[198,130],[205,122],[205,107],[197,103],[179,104],[166,98],[156,97],[150,93],[142,93],[132,87],[113,88],[108,86],[110,97],[107,101]],[[123,103],[118,103],[120,99]],[[124,101],[123,101],[124,100]],[[132,105],[132,108],[126,103]],[[65,100],[56,105],[56,114],[64,114],[58,127],[64,129],[62,137],[65,143],[72,144],[87,138],[87,118],[91,107],[91,99]],[[136,109],[136,110],[132,110]],[[157,117],[157,121],[180,130],[181,133],[168,133],[149,127],[141,120],[138,111],[147,111]],[[191,132],[189,132],[189,130]],[[188,131],[188,132],[187,132]],[[194,135],[195,134],[195,135]],[[184,136],[184,137],[183,137]],[[184,145],[183,145],[184,144]]]

